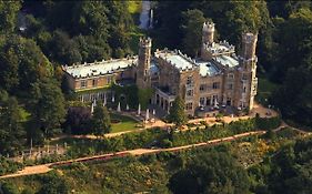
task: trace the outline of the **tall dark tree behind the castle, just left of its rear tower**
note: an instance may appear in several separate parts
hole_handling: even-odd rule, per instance
[[[183,50],[191,57],[198,57],[202,42],[202,24],[205,22],[203,13],[198,10],[188,10],[182,13]]]

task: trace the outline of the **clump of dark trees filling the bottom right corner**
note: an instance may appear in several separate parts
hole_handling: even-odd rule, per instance
[[[256,176],[262,186],[256,188],[271,193],[311,193],[311,142],[309,137],[288,144],[271,160],[253,169],[252,175],[256,171],[262,173],[262,177]]]

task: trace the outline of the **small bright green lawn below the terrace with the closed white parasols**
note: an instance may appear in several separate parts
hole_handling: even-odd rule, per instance
[[[111,133],[131,131],[138,129],[135,125],[138,125],[139,122],[133,120],[132,118],[111,113],[111,119],[121,121],[120,123],[115,123],[115,124],[112,123]]]

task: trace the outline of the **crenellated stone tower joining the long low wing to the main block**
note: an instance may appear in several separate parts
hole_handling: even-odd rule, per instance
[[[151,65],[152,40],[150,38],[140,38],[139,59],[137,67],[137,85],[139,89],[151,86],[150,65]]]

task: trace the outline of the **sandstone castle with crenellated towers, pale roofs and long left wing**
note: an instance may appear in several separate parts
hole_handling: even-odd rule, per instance
[[[132,80],[139,89],[154,89],[151,103],[169,112],[180,95],[189,115],[214,115],[225,108],[251,110],[256,94],[258,34],[242,34],[242,51],[227,41],[214,41],[214,23],[202,28],[200,58],[179,50],[157,50],[150,38],[140,39],[139,55],[63,67],[70,88],[81,101],[101,100],[112,82]],[[213,114],[212,114],[213,113]]]

